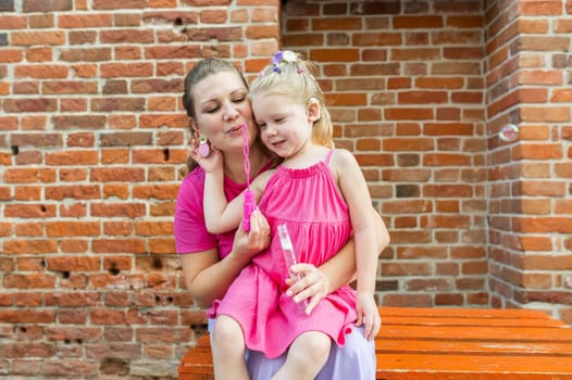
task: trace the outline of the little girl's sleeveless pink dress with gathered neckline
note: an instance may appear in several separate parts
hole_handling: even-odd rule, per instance
[[[243,269],[209,313],[235,318],[247,346],[271,358],[304,331],[322,331],[344,345],[357,318],[356,292],[349,286],[322,300],[309,316],[285,294],[288,270],[277,225],[287,225],[298,262],[315,266],[335,255],[351,233],[348,206],[327,165],[332,152],[308,168],[277,167],[259,204],[272,229],[271,246]]]

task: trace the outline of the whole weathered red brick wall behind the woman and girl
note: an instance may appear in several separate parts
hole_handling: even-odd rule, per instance
[[[321,64],[391,233],[386,305],[572,322],[570,1],[0,0],[0,377],[175,378],[185,73]],[[282,16],[282,30],[279,26]],[[515,123],[520,139],[502,142]],[[189,326],[191,328],[189,328]]]

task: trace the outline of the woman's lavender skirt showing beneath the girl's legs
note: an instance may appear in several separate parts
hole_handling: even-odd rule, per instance
[[[209,320],[212,332],[214,319]],[[269,380],[282,367],[287,353],[270,359],[259,351],[246,353],[248,373],[251,380]],[[315,380],[375,380],[375,343],[363,338],[363,328],[353,327],[346,334],[346,345],[335,343],[329,350],[329,357]]]

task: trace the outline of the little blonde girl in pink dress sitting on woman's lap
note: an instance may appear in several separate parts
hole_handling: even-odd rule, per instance
[[[212,346],[217,379],[248,379],[245,343],[268,357],[288,350],[273,380],[314,379],[332,341],[344,345],[345,333],[353,324],[364,325],[369,340],[381,327],[374,300],[377,244],[371,197],[353,155],[333,148],[329,113],[309,68],[294,52],[277,52],[251,85],[261,139],[284,161],[251,183],[259,210],[271,226],[271,245],[254,256],[210,311],[216,317]],[[228,126],[232,132],[236,128]],[[203,201],[209,231],[235,229],[243,217],[244,195],[227,203],[220,152],[212,149],[199,164],[207,173]],[[285,293],[285,279],[290,275],[277,237],[278,225],[287,226],[297,261],[315,266],[333,256],[353,233],[357,294],[346,286],[313,309],[300,311]]]

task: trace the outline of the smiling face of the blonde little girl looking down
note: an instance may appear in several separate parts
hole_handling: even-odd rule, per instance
[[[312,139],[312,107],[277,93],[252,98],[252,111],[260,127],[262,142],[281,157],[293,157]]]

